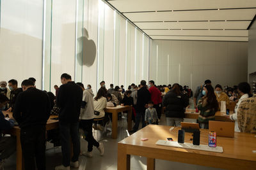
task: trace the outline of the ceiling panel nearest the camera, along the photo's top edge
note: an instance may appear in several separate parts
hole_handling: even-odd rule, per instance
[[[121,12],[256,7],[255,0],[115,0],[108,2]]]

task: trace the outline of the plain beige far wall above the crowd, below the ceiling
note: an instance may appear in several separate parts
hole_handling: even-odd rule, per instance
[[[237,85],[247,80],[247,46],[228,41],[152,41],[149,79],[193,90],[206,79],[213,85]]]

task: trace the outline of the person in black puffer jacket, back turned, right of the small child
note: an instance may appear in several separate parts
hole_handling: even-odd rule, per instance
[[[163,106],[166,106],[165,115],[167,125],[180,126],[185,117],[184,111],[189,104],[188,97],[180,91],[178,83],[173,84],[173,89],[169,90],[163,98]]]

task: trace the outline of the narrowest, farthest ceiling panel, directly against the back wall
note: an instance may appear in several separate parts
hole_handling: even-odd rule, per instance
[[[208,36],[151,36],[152,39],[200,40],[200,41],[248,41],[247,37],[208,37]]]

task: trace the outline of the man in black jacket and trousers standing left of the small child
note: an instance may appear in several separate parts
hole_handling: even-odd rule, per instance
[[[150,101],[150,92],[147,89],[145,80],[141,80],[140,85],[141,88],[138,90],[137,97],[135,125],[131,131],[132,133],[138,131],[140,121],[142,123],[142,128],[146,126],[145,111],[148,108],[148,101]]]

